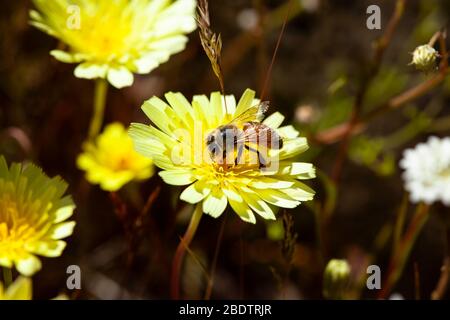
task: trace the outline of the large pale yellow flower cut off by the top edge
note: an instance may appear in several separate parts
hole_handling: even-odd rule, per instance
[[[51,55],[81,63],[79,78],[106,78],[117,88],[146,74],[186,45],[196,28],[195,0],[33,0],[31,24],[68,51]]]

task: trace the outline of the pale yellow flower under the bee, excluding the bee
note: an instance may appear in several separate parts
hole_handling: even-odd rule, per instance
[[[258,103],[254,91],[246,90],[237,105],[233,96],[227,96],[226,107],[218,92],[210,99],[194,96],[192,104],[180,93],[165,96],[169,104],[153,97],[142,106],[154,126],[133,123],[129,133],[135,149],[163,169],[159,174],[166,183],[189,185],[182,200],[202,201],[203,212],[213,217],[220,216],[229,203],[244,221],[255,223],[255,212],[275,219],[274,206],[294,208],[313,198],[314,191],[300,180],[313,178],[314,167],[293,160],[308,148],[306,138],[292,126],[279,127],[284,117],[278,112],[263,122],[283,138],[281,149],[270,150],[278,166],[260,170],[247,163],[228,167],[211,161],[206,136]]]

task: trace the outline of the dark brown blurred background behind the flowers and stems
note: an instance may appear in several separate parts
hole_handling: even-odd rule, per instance
[[[270,76],[268,99],[270,112],[282,112],[285,123],[314,137],[316,132],[348,119],[373,55],[373,41],[382,35],[395,1],[295,1],[302,8],[296,5],[289,17]],[[212,27],[223,37],[227,93],[239,97],[248,87],[261,92],[286,3],[210,1]],[[366,8],[370,4],[381,8],[382,30],[366,28]],[[68,239],[68,247],[60,258],[43,259],[42,271],[34,276],[34,295],[38,299],[60,292],[83,299],[168,298],[168,270],[192,209],[178,200],[182,189],[165,185],[155,175],[119,192],[127,215],[121,220],[111,196],[83,179],[75,159],[86,136],[94,83],[75,78],[74,65],[58,62],[49,55],[58,46],[58,40],[28,24],[30,8],[31,1],[2,2],[0,154],[8,161],[33,161],[50,176],[61,175],[69,183],[69,192],[77,204],[77,227]],[[449,12],[450,1],[407,1],[380,73],[369,90],[367,110],[429,76],[408,66],[410,53],[427,43],[434,32],[448,26]],[[209,94],[218,88],[194,32],[186,50],[151,74],[135,76],[132,87],[109,88],[105,123],[146,122],[140,106],[153,95],[162,97],[167,91],[180,91],[190,99],[194,94]],[[380,231],[392,224],[404,196],[398,160],[405,148],[424,141],[430,134],[448,135],[448,127],[433,127],[433,123],[450,114],[449,93],[450,82],[446,81],[413,103],[378,118],[368,131],[351,141],[349,159],[336,191],[336,208],[324,235],[325,262],[346,258],[354,270],[365,272],[369,261],[380,265],[382,272],[387,269],[391,245],[389,239],[383,240]],[[412,129],[408,127],[411,123]],[[328,176],[339,145],[324,146],[311,141],[311,149],[299,159],[313,162]],[[379,141],[383,141],[382,147]],[[308,182],[317,190],[318,203],[330,197],[323,180],[329,178]],[[139,216],[139,208],[153,193],[157,198],[149,213]],[[287,212],[294,218],[298,235],[289,266],[280,245],[281,219],[275,223],[258,219],[256,225],[250,225],[227,210],[212,297],[321,298],[323,261],[318,254],[312,207],[301,205]],[[417,239],[394,290],[408,299],[413,299],[417,291],[414,265],[420,275],[421,298],[430,297],[440,274],[444,230],[438,213],[450,212],[439,206],[434,210],[439,212],[433,212],[436,214]],[[197,258],[207,268],[213,260],[224,216],[205,216],[192,244]],[[65,289],[66,267],[71,264],[82,268],[80,292]],[[205,276],[192,257],[187,258],[183,279],[184,295],[201,298]],[[360,295],[375,296],[367,289]]]

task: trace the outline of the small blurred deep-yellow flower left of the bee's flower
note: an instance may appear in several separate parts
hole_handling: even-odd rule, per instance
[[[95,144],[87,142],[77,159],[78,168],[86,171],[86,179],[100,184],[106,191],[119,190],[131,180],[144,180],[153,175],[152,160],[133,149],[133,141],[122,124],[106,126]]]

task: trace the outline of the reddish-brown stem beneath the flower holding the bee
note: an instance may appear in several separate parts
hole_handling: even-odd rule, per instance
[[[202,205],[197,204],[194,209],[194,213],[192,214],[191,221],[189,222],[189,226],[184,234],[184,236],[180,239],[180,243],[178,244],[177,250],[175,251],[175,256],[172,261],[172,276],[171,276],[171,297],[174,300],[178,300],[180,298],[180,272],[183,264],[184,255],[186,254],[186,249],[194,238],[195,232],[197,231],[197,227],[200,223],[200,219],[203,215]]]

